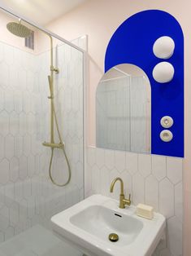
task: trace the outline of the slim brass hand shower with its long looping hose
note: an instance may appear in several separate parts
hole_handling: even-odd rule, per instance
[[[68,161],[68,158],[67,158],[67,153],[65,151],[65,148],[64,148],[64,143],[63,143],[63,139],[61,137],[61,134],[60,134],[60,131],[59,131],[59,123],[58,123],[58,119],[57,119],[57,115],[56,115],[56,112],[55,112],[55,105],[54,105],[54,95],[53,95],[53,91],[52,91],[52,87],[51,87],[51,78],[50,76],[48,77],[49,78],[49,85],[50,85],[50,100],[51,100],[51,108],[53,109],[53,114],[54,114],[54,121],[55,121],[55,125],[56,125],[56,130],[58,132],[58,135],[59,135],[59,143],[61,145],[61,149],[63,150],[63,155],[66,159],[66,162],[67,162],[67,170],[68,170],[68,178],[67,178],[67,181],[65,183],[62,183],[62,184],[59,184],[57,183],[53,176],[52,176],[52,161],[53,161],[53,157],[54,157],[54,148],[52,147],[51,148],[51,157],[50,157],[50,164],[49,164],[49,176],[50,176],[50,179],[51,179],[51,182],[54,183],[54,185],[56,186],[59,186],[59,187],[64,187],[66,186],[70,180],[71,180],[71,166],[70,166],[70,163]]]

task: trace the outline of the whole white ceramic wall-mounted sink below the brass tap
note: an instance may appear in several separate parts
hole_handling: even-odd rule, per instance
[[[163,236],[165,218],[154,213],[152,220],[138,217],[136,207],[119,209],[110,197],[93,195],[54,215],[52,227],[90,256],[150,256]],[[108,236],[116,233],[119,240]]]

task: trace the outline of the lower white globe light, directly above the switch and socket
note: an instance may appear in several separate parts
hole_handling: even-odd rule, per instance
[[[158,63],[153,69],[153,77],[156,82],[171,82],[174,77],[175,69],[169,62]]]

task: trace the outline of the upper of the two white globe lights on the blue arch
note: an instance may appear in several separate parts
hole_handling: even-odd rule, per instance
[[[170,37],[161,37],[154,42],[154,55],[159,59],[167,60],[173,55],[175,42]]]

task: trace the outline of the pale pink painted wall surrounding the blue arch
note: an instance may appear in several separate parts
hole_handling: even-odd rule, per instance
[[[190,0],[89,0],[74,11],[54,20],[47,27],[67,40],[89,36],[88,130],[89,144],[94,144],[95,90],[102,77],[106,45],[115,29],[137,11],[168,11],[180,22],[184,31],[185,87],[185,158],[184,158],[184,256],[191,255],[191,22]]]

